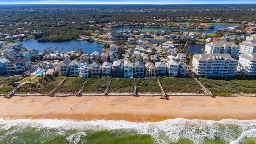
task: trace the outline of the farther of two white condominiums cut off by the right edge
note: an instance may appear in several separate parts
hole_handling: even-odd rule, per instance
[[[240,54],[251,54],[256,52],[256,39],[255,40],[249,40],[249,41],[243,41],[240,43]]]

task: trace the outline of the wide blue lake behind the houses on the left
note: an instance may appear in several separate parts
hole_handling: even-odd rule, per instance
[[[23,40],[23,41],[16,41],[17,44],[22,44],[25,48],[29,50],[39,50],[39,52],[44,52],[44,49],[47,50],[47,48],[52,47],[52,50],[54,50],[54,48],[56,46],[58,46],[58,50],[59,52],[62,52],[62,47],[63,47],[63,51],[72,51],[72,47],[74,47],[74,51],[76,51],[76,47],[82,48],[83,52],[85,54],[91,54],[94,51],[97,51],[99,53],[102,53],[102,47],[104,46],[103,44],[99,44],[96,42],[87,42],[87,41],[79,41],[79,40],[70,40],[70,41],[66,41],[66,42],[38,42],[35,39],[31,39],[31,40]],[[70,48],[68,50],[68,48]]]

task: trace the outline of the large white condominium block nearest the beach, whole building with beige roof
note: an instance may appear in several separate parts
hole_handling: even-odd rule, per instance
[[[235,76],[237,60],[230,54],[195,54],[192,71],[197,76]]]

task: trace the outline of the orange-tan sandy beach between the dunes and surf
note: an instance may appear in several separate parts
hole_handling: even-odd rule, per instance
[[[156,122],[172,118],[256,119],[256,97],[0,96],[0,117]]]

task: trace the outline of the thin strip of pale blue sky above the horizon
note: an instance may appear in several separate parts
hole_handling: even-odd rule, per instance
[[[256,4],[256,0],[0,0],[0,4]]]

